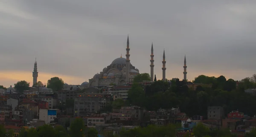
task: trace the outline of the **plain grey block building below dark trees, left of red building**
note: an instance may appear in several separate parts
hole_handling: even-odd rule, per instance
[[[208,120],[221,120],[224,117],[224,111],[221,106],[208,106],[207,118]]]

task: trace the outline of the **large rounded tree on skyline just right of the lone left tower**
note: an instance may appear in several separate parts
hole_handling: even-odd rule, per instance
[[[63,88],[64,81],[58,77],[52,77],[47,82],[47,88],[52,88],[52,91],[59,91]]]

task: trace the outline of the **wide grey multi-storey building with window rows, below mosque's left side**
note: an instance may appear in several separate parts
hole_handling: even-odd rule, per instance
[[[83,93],[75,97],[74,116],[87,115],[105,108],[111,99],[111,94]]]

